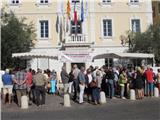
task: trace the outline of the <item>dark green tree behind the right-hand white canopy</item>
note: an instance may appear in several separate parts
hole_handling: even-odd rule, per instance
[[[160,63],[160,24],[151,25],[145,32],[136,33],[129,52],[154,53],[156,63]]]

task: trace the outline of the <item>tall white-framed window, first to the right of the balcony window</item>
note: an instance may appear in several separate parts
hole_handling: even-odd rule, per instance
[[[103,36],[112,37],[112,20],[111,19],[103,20]]]

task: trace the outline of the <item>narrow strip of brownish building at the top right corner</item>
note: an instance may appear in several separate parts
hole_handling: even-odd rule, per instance
[[[153,24],[160,24],[160,1],[152,1]]]

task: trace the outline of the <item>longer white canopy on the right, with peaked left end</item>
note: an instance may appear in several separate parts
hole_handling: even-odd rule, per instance
[[[145,53],[105,53],[96,55],[93,59],[104,59],[104,58],[154,58],[154,54]]]

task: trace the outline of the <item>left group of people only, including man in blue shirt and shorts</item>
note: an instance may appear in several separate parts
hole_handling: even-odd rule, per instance
[[[45,105],[46,92],[53,94],[56,91],[56,74],[55,70],[50,71],[49,69],[43,72],[41,69],[37,69],[37,72],[32,69],[14,71],[6,69],[2,76],[4,104],[6,101],[9,104],[15,101],[21,107],[21,97],[27,95],[29,105],[32,103],[37,106]]]

